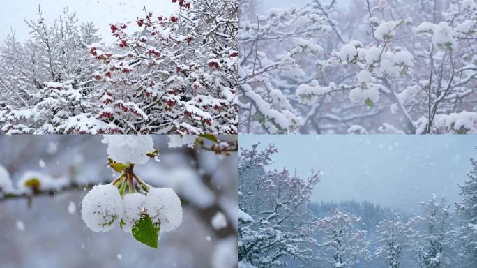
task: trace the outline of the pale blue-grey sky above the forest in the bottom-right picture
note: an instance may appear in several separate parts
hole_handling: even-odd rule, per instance
[[[457,184],[477,158],[474,135],[241,135],[241,147],[261,142],[279,149],[273,168],[323,176],[313,200],[370,200],[416,211],[432,193],[460,199]]]

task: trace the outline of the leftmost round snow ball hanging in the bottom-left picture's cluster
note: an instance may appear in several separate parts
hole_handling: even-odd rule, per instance
[[[81,217],[93,232],[107,232],[123,215],[123,200],[112,184],[94,186],[82,201]]]

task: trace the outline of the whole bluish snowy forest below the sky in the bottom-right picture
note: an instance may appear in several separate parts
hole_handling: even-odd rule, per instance
[[[411,214],[371,202],[311,202],[321,173],[268,168],[283,153],[273,145],[241,149],[239,267],[476,266],[476,161],[455,185],[460,200],[423,197]]]

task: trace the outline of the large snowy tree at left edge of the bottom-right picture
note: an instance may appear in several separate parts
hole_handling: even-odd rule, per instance
[[[289,171],[265,171],[277,151],[254,145],[239,158],[239,260],[241,267],[286,267],[286,257],[310,260],[312,221],[306,204],[319,174],[307,179]]]

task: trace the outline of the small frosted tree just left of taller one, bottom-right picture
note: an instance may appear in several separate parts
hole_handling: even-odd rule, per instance
[[[402,251],[409,248],[413,232],[409,223],[402,223],[399,214],[393,213],[391,219],[377,225],[377,241],[380,246],[375,254],[386,258],[389,268],[402,267]]]

